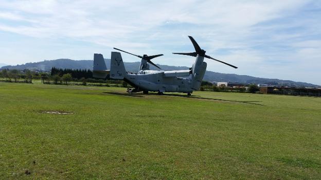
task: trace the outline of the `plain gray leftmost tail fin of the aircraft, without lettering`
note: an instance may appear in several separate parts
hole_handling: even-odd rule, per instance
[[[101,54],[94,53],[93,77],[106,79],[109,74],[110,70],[107,70],[103,56]]]

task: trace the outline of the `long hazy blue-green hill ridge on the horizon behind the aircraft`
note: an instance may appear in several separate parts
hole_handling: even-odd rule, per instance
[[[110,59],[106,59],[107,68],[110,69]],[[140,62],[124,62],[126,69],[128,71],[137,71]],[[186,66],[168,66],[160,65],[163,70],[182,70],[188,69]],[[6,69],[30,69],[30,70],[44,70],[49,71],[51,67],[57,68],[70,68],[70,69],[92,69],[93,61],[92,60],[70,60],[70,59],[57,59],[57,60],[45,60],[35,63],[26,63],[16,66],[3,66],[2,68]],[[151,69],[156,70],[156,67],[151,66]],[[256,83],[256,84],[273,84],[273,85],[290,85],[290,86],[309,86],[309,87],[320,87],[319,85],[306,83],[306,82],[295,82],[290,80],[280,80],[280,79],[269,79],[269,78],[257,78],[246,75],[236,75],[236,74],[224,74],[216,73],[213,71],[206,71],[204,80],[211,82],[239,82],[239,83]]]

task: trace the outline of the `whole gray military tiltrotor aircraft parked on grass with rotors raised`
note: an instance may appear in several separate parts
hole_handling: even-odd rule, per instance
[[[105,61],[101,54],[94,54],[94,71],[93,77],[105,79],[108,74],[110,74],[111,79],[124,80],[129,83],[134,89],[128,89],[128,93],[137,93],[143,92],[147,94],[150,92],[158,92],[158,94],[163,94],[164,92],[181,92],[187,93],[187,95],[191,95],[193,91],[197,91],[203,80],[205,71],[206,71],[206,62],[204,62],[204,58],[212,59],[231,67],[237,68],[234,65],[230,65],[223,61],[219,61],[214,59],[208,55],[205,55],[205,50],[201,49],[198,43],[193,39],[193,37],[189,36],[191,40],[195,52],[189,53],[174,53],[177,55],[186,55],[196,57],[195,62],[192,67],[186,70],[150,70],[149,64],[152,64],[159,68],[156,64],[151,62],[151,59],[163,56],[154,55],[154,56],[138,56],[132,53],[114,48],[116,50],[129,53],[130,55],[141,58],[140,66],[138,69],[138,73],[132,74],[128,73],[125,69],[124,63],[122,61],[120,52],[112,52],[111,57],[111,69],[107,70]],[[149,63],[149,64],[147,64]],[[159,68],[161,69],[161,68]],[[182,78],[188,77],[188,78]]]

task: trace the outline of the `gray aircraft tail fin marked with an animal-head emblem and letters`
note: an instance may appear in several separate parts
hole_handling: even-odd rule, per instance
[[[110,78],[124,79],[125,75],[126,69],[122,61],[120,52],[112,52]]]

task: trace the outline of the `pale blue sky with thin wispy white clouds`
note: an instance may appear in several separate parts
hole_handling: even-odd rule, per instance
[[[207,70],[321,85],[321,1],[0,0],[0,64],[110,58],[113,47],[188,66],[191,35]],[[122,53],[123,61],[138,58]]]

